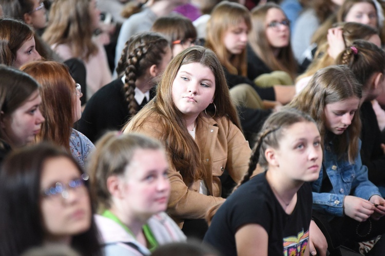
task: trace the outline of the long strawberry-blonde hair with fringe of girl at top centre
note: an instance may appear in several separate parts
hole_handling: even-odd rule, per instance
[[[248,30],[252,28],[249,10],[241,4],[223,1],[218,4],[207,23],[206,47],[215,51],[222,65],[230,74],[247,75],[246,49],[241,54],[230,54],[223,42],[229,28],[245,22]]]

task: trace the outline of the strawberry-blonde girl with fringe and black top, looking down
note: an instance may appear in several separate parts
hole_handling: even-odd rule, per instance
[[[245,88],[248,91],[253,88],[258,94],[254,92],[256,101],[262,99],[286,104],[295,94],[294,86],[259,88],[247,78],[246,45],[251,30],[251,15],[247,8],[238,3],[223,1],[211,13],[207,24],[206,46],[213,49],[221,61],[230,88]],[[238,84],[242,84],[242,87],[237,87]],[[262,108],[267,106],[267,102],[264,103]]]

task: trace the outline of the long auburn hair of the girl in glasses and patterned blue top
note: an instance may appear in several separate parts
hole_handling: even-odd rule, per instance
[[[75,83],[67,66],[55,61],[32,61],[20,68],[42,86],[40,110],[45,118],[37,141],[48,140],[69,151],[76,100]]]

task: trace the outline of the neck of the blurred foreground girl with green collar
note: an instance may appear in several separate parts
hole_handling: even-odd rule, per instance
[[[141,216],[136,217],[128,212],[118,209],[115,205],[112,205],[109,209],[124,225],[126,225],[135,237],[138,237],[142,233],[142,227],[147,223],[149,217]]]

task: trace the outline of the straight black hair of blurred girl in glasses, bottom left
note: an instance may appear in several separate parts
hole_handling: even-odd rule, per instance
[[[15,150],[4,159],[0,172],[1,255],[20,255],[26,249],[43,245],[46,231],[40,204],[41,176],[45,162],[60,157],[71,161],[83,174],[68,152],[50,143]],[[102,255],[97,232],[91,216],[90,229],[73,236],[71,247],[82,255]]]

